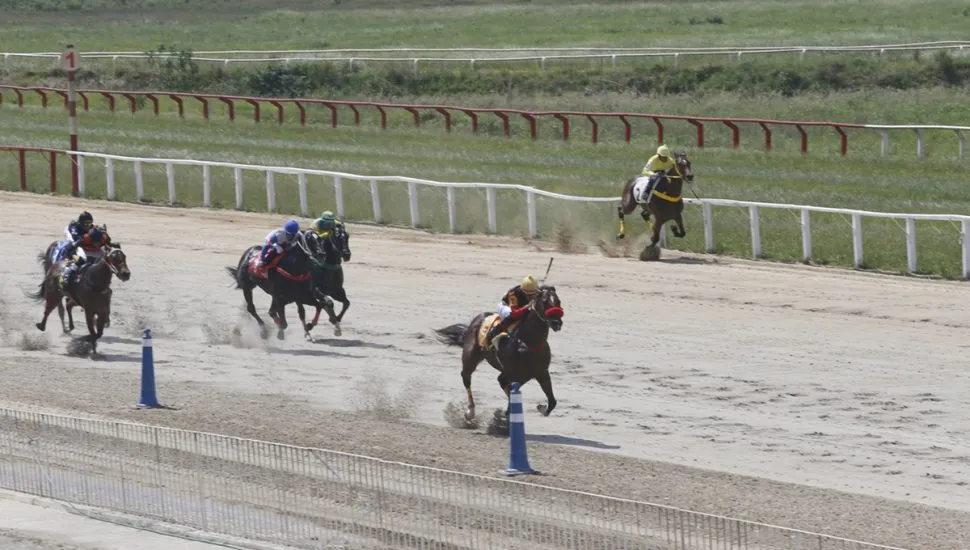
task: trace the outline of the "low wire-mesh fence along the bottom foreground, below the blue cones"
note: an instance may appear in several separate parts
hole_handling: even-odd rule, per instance
[[[293,548],[900,550],[323,449],[8,408],[0,487]]]

